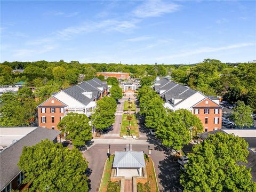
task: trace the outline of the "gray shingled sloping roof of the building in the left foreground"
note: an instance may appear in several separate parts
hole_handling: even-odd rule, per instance
[[[4,127],[12,129],[12,127]],[[0,153],[0,190],[2,190],[20,172],[17,165],[24,146],[33,146],[38,142],[49,139],[54,140],[60,131],[37,127],[25,137],[13,143]]]

